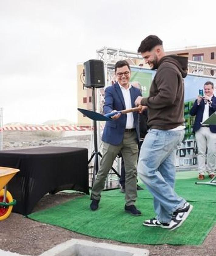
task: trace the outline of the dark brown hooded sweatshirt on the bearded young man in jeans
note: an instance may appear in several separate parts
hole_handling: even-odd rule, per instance
[[[169,130],[184,122],[184,81],[187,76],[187,57],[166,55],[160,59],[152,81],[149,97],[142,105],[148,106],[148,126]]]

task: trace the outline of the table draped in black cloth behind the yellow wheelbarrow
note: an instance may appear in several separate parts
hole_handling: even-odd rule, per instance
[[[28,215],[46,193],[65,189],[89,195],[85,148],[37,147],[0,151],[0,166],[19,169],[8,183],[16,199],[13,212]]]

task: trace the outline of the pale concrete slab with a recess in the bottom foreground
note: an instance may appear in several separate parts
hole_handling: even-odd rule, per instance
[[[128,246],[71,239],[40,256],[148,256],[149,251]]]

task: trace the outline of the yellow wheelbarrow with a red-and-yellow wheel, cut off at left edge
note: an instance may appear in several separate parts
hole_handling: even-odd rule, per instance
[[[6,219],[16,204],[16,200],[7,191],[7,184],[19,169],[0,167],[0,221]]]

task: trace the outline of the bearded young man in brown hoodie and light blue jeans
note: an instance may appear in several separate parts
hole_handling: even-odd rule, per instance
[[[163,42],[150,35],[138,52],[151,69],[157,69],[149,97],[137,97],[136,105],[148,107],[150,130],[142,144],[138,174],[154,197],[156,216],[144,226],[174,230],[187,218],[193,206],[174,191],[175,149],[184,137],[184,82],[187,58],[167,55]]]

